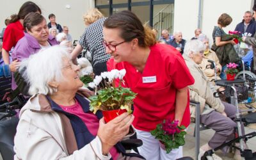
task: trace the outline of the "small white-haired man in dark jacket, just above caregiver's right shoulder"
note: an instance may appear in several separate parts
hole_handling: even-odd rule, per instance
[[[186,40],[182,39],[182,32],[181,31],[175,31],[174,39],[168,42],[168,44],[172,45],[179,51],[181,54],[183,54],[184,46],[186,44]]]

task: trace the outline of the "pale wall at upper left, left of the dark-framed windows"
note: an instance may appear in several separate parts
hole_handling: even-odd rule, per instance
[[[4,0],[1,0],[4,1]],[[18,13],[20,6],[27,0],[7,0],[1,2],[0,10],[0,29],[5,27],[4,19],[10,17],[13,13]],[[61,26],[68,26],[69,33],[72,39],[78,39],[84,31],[83,14],[90,8],[94,8],[94,0],[31,0],[38,4],[42,10],[47,22],[49,22],[48,15],[54,13],[56,15],[56,22]],[[66,8],[69,4],[70,8]]]

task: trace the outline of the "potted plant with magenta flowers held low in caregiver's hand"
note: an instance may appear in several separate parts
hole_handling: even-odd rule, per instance
[[[186,127],[184,125],[179,126],[179,121],[163,120],[161,124],[158,124],[156,129],[150,131],[150,133],[159,140],[160,147],[166,150],[166,153],[170,153],[173,148],[179,148],[185,144]]]

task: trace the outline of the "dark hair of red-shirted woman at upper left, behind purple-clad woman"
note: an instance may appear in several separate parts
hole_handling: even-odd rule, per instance
[[[29,12],[40,12],[40,14],[42,13],[39,6],[37,6],[35,3],[31,2],[31,1],[28,1],[24,4],[22,4],[18,14],[14,14],[11,16],[12,19],[10,20],[10,23],[16,22],[17,20],[20,20],[20,19],[25,19],[25,16]]]

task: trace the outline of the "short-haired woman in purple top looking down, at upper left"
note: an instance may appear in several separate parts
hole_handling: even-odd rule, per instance
[[[45,18],[39,13],[28,13],[23,23],[26,33],[15,46],[12,59],[22,61],[35,54],[40,49],[57,45],[56,39],[49,35],[49,29]],[[12,79],[12,90],[17,88],[14,79]]]

